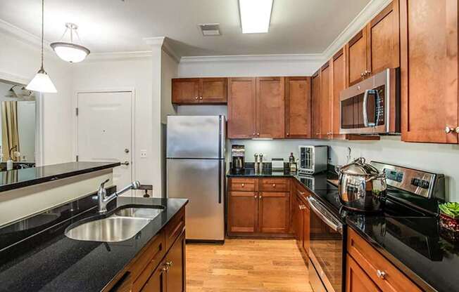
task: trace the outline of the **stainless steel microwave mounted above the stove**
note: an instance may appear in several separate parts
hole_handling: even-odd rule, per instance
[[[400,133],[399,69],[385,69],[346,88],[339,100],[339,133]]]

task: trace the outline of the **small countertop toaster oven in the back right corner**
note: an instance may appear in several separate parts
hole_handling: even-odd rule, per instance
[[[311,175],[327,171],[327,146],[298,146],[298,150],[300,152],[299,174]]]

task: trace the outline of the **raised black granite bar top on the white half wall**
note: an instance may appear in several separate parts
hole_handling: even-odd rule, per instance
[[[101,171],[106,168],[119,166],[119,162],[68,162],[11,171],[0,172],[0,192],[28,187],[51,180],[70,178],[71,176]]]

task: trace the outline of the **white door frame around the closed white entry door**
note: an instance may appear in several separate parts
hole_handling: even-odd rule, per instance
[[[82,89],[76,90],[73,94],[73,159],[77,160],[78,154],[78,119],[76,109],[78,107],[78,94],[80,93],[130,93],[131,94],[131,180],[135,178],[135,88],[134,87],[120,87],[120,88],[102,88],[102,89]]]

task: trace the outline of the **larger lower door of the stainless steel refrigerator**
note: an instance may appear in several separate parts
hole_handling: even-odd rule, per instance
[[[225,160],[168,159],[168,197],[189,199],[187,239],[225,239]]]

